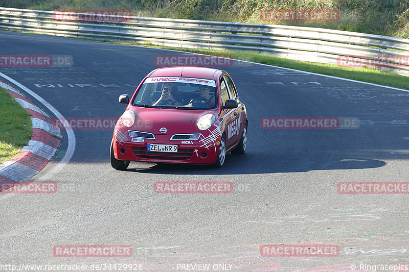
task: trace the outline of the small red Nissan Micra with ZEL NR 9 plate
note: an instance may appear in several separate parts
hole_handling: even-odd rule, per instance
[[[119,118],[110,149],[111,166],[130,161],[213,164],[226,154],[243,154],[247,111],[225,71],[204,67],[166,67],[139,84]]]

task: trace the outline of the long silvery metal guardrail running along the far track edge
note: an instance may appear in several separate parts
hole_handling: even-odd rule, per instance
[[[409,39],[331,29],[131,16],[118,22],[58,21],[54,11],[0,8],[0,28],[66,37],[267,53],[409,76]],[[376,64],[377,63],[377,64]]]

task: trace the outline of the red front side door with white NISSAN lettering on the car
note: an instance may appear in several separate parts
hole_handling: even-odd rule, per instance
[[[230,99],[237,100],[237,92],[234,89],[234,86],[232,84],[232,80],[229,78],[229,76],[224,75],[221,79],[220,82],[220,87],[223,87],[226,89],[228,96]],[[221,88],[222,89],[222,88]],[[221,90],[220,89],[220,90]],[[224,105],[224,102],[223,102]],[[227,120],[226,120],[226,146],[229,148],[233,144],[235,144],[241,137],[241,115],[240,115],[240,107],[237,107],[235,109],[226,109],[229,110]]]

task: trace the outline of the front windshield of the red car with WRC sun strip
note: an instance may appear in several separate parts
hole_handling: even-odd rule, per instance
[[[173,109],[213,109],[216,82],[182,77],[147,78],[132,101],[133,106]]]

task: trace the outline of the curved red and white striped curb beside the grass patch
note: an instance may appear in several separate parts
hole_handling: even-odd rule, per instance
[[[15,88],[0,81],[14,99],[31,114],[33,134],[14,158],[0,164],[0,182],[18,183],[36,175],[57,152],[62,135],[55,121]],[[0,186],[0,191],[2,188]]]

